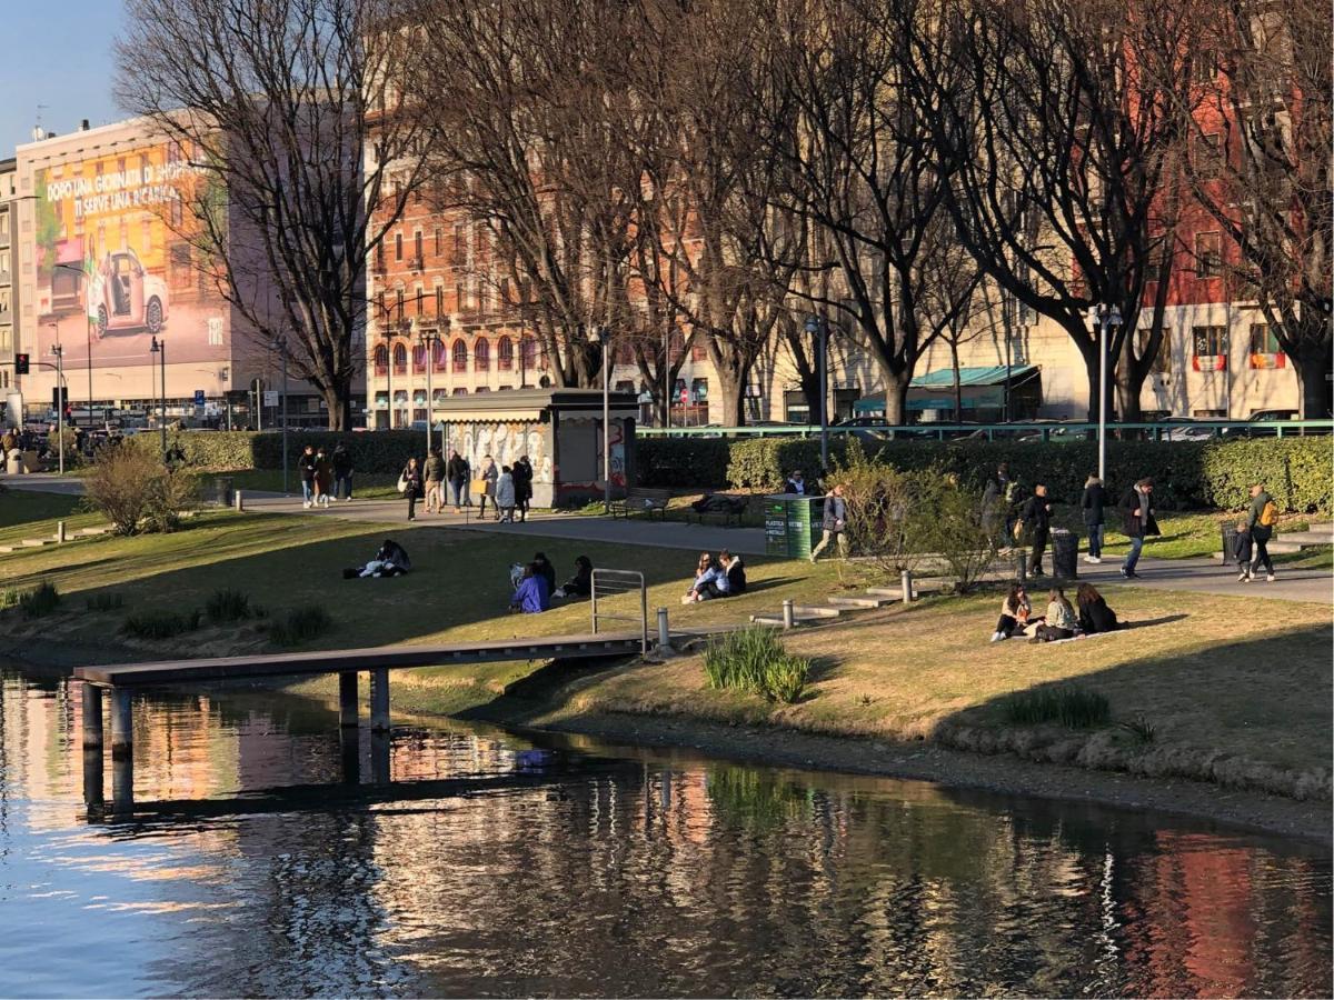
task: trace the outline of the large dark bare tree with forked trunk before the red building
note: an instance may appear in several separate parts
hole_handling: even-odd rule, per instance
[[[1187,5],[1011,0],[912,24],[906,65],[923,111],[940,112],[934,143],[956,172],[948,204],[960,237],[1006,293],[1074,340],[1091,416],[1099,343],[1089,308],[1119,308],[1109,355],[1121,415],[1134,420],[1165,329],[1182,147],[1170,95],[1191,73]]]

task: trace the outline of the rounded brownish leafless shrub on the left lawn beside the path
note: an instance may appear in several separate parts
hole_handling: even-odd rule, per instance
[[[103,448],[84,479],[88,503],[111,521],[117,535],[165,532],[180,525],[193,507],[199,483],[193,475],[163,465],[143,448]]]

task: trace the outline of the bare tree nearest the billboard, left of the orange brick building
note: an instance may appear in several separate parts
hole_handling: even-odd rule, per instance
[[[402,112],[394,0],[127,0],[116,95],[187,151],[197,225],[180,229],[259,343],[351,423],[366,256],[422,177]],[[388,204],[372,220],[367,205]]]

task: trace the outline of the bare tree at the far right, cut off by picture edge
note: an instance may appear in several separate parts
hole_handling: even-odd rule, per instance
[[[1198,87],[1177,92],[1190,189],[1237,253],[1223,271],[1293,359],[1302,416],[1330,415],[1334,47],[1315,0],[1197,7]],[[1195,95],[1201,95],[1197,100]]]

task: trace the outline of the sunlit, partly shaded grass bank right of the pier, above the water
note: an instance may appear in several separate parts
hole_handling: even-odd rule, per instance
[[[1133,587],[1106,596],[1134,627],[1057,645],[988,643],[999,596],[928,600],[794,632],[788,649],[812,659],[812,683],[795,705],[711,691],[696,656],[576,683],[563,711],[939,740],[1327,797],[1329,607]],[[1007,695],[1054,683],[1105,695],[1113,724],[1010,724]],[[1151,741],[1117,725],[1139,719]]]

